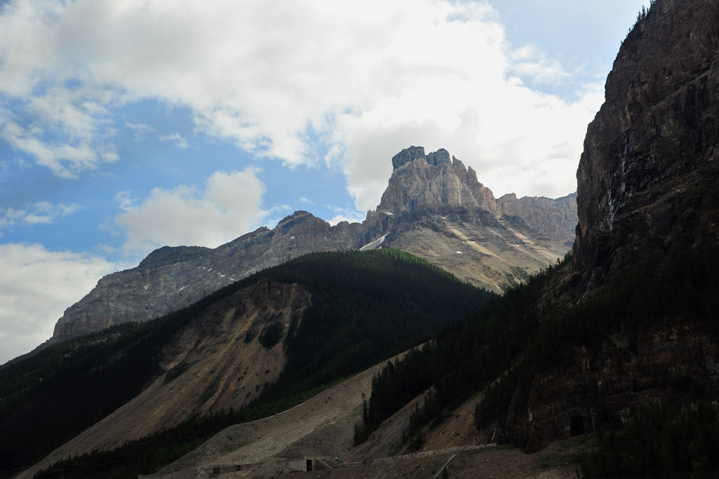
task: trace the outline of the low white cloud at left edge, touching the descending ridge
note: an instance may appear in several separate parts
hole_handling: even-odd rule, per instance
[[[117,269],[95,256],[38,244],[0,245],[0,363],[50,338],[65,308]]]

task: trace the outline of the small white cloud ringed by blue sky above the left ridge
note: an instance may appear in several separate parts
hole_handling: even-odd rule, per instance
[[[267,214],[262,210],[265,186],[258,169],[216,172],[204,189],[178,186],[155,188],[143,200],[129,192],[116,199],[124,213],[116,225],[127,231],[126,251],[147,254],[157,246],[216,247],[247,233]]]

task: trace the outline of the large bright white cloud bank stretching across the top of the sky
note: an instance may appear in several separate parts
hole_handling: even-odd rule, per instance
[[[321,161],[321,144],[361,210],[411,144],[449,149],[498,194],[557,195],[575,188],[601,101],[596,85],[574,100],[528,87],[568,75],[535,47],[513,49],[479,2],[16,0],[0,32],[0,95],[49,112],[66,141],[37,144],[7,119],[2,134],[64,176],[116,159],[99,140],[112,108],[156,98],[289,165]]]

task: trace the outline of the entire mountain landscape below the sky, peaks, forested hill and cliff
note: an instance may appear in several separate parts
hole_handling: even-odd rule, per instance
[[[718,155],[719,5],[653,1],[576,196],[495,198],[448,152],[410,147],[363,223],[297,212],[219,248],[160,248],[0,369],[0,411],[27,424],[0,451],[40,450],[45,428],[42,455],[60,447],[18,477],[477,477],[495,456],[446,448],[536,452],[602,429],[582,477],[714,477]],[[99,394],[113,378],[128,387]],[[101,419],[58,427],[50,396]],[[377,461],[418,448],[449,460]],[[541,477],[578,474],[559,457]]]

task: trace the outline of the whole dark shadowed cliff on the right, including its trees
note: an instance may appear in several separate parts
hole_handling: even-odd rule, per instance
[[[529,450],[585,432],[587,411],[616,427],[643,405],[719,397],[719,4],[657,0],[605,90],[573,264],[538,305],[562,311],[542,318],[561,353],[533,350],[541,366],[504,424]]]

